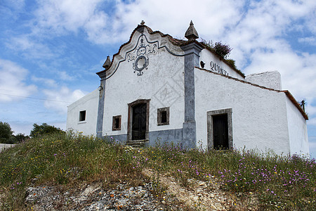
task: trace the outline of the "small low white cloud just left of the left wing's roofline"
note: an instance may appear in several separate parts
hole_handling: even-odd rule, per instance
[[[61,87],[59,90],[44,89],[44,94],[51,100],[45,101],[44,106],[48,109],[58,111],[59,113],[67,113],[67,106],[85,95],[85,93],[79,89],[71,91],[67,87]]]

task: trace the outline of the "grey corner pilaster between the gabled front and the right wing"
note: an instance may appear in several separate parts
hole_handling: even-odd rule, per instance
[[[185,122],[183,122],[183,145],[197,146],[197,126],[195,122],[195,66],[199,66],[199,53],[202,47],[192,42],[181,49],[185,51]]]

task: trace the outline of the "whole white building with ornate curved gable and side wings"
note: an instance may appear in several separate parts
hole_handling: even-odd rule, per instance
[[[308,153],[308,116],[279,72],[244,76],[205,44],[192,22],[180,40],[141,23],[100,87],[68,107],[67,129],[145,146],[257,148]]]

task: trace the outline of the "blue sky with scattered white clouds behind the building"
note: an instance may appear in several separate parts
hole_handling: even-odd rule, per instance
[[[65,129],[67,106],[99,86],[96,72],[145,20],[184,39],[232,47],[246,75],[278,70],[282,88],[307,102],[316,156],[316,1],[0,1],[0,121],[15,134],[46,122]]]

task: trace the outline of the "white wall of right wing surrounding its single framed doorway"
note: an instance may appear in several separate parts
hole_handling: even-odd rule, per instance
[[[197,141],[207,146],[207,111],[232,108],[232,139],[236,148],[290,152],[284,93],[204,70],[195,69],[195,75]]]

